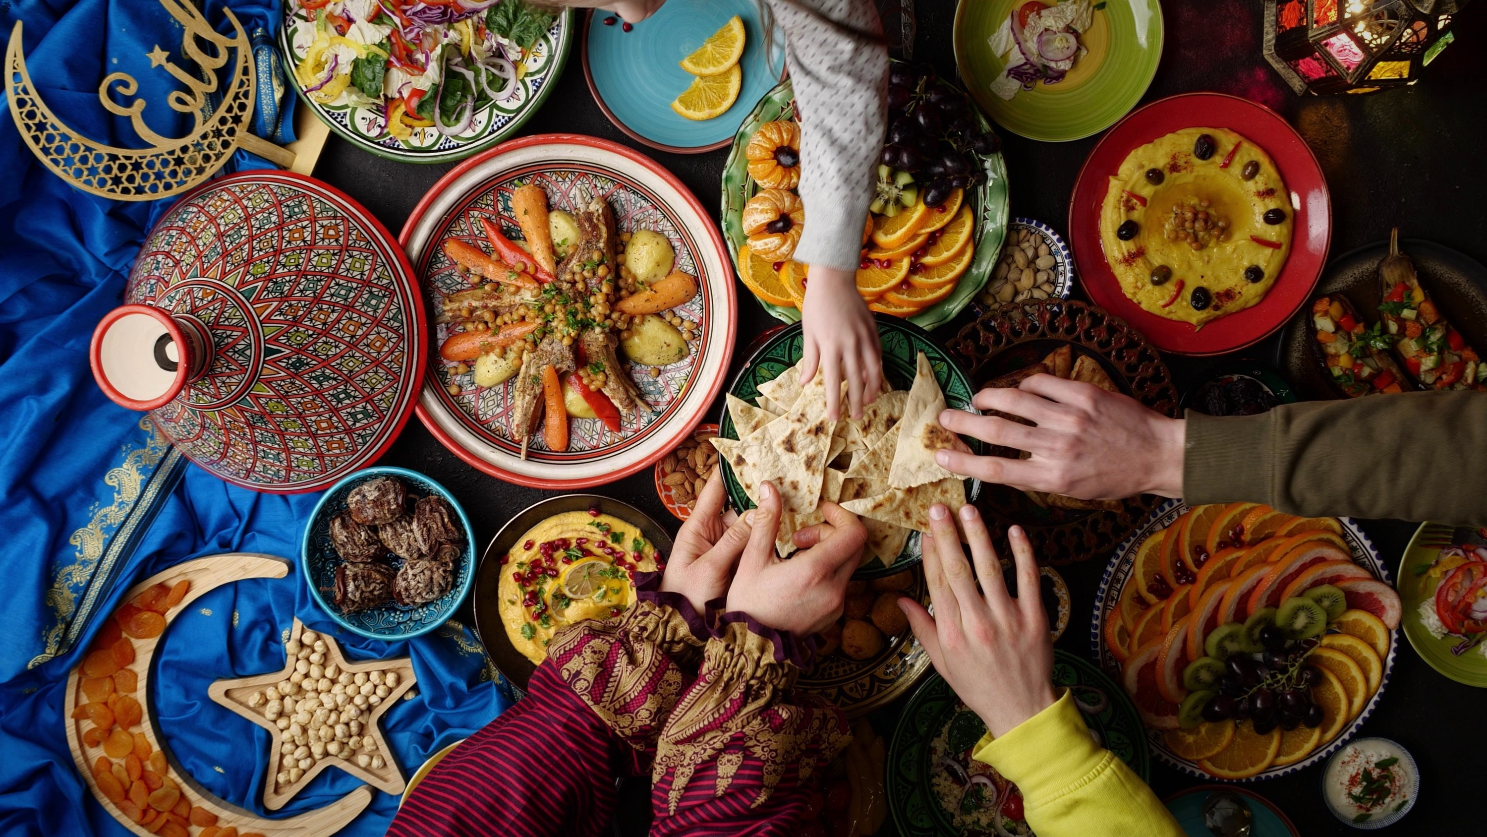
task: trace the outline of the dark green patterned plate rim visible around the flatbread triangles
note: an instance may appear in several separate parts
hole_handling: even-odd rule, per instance
[[[950,360],[950,354],[940,348],[923,329],[904,323],[897,317],[879,314],[877,336],[883,345],[883,378],[895,390],[909,390],[913,385],[919,352],[925,352],[925,357],[929,358],[929,366],[934,367],[935,381],[944,392],[946,406],[952,410],[977,412],[971,406],[971,395],[975,394],[975,390],[971,388],[971,379],[965,376],[965,372]],[[757,403],[758,385],[773,381],[779,373],[800,363],[803,346],[804,337],[800,333],[799,323],[781,329],[764,340],[754,355],[748,358],[744,370],[739,372],[739,376],[733,379],[733,385],[729,387],[729,392],[751,404]],[[723,416],[718,419],[718,436],[724,439],[739,437],[738,428],[733,427],[733,418],[726,407]],[[965,442],[975,453],[986,455],[986,443],[980,439],[965,439]],[[752,508],[754,502],[744,494],[744,486],[733,476],[733,468],[727,467],[726,461],[723,461],[723,485],[727,488],[729,502],[739,511]],[[980,491],[980,480],[965,480],[967,501],[974,501]],[[920,558],[919,532],[915,532],[909,535],[909,543],[904,546],[904,552],[898,555],[898,560],[885,566],[880,559],[874,558],[858,569],[854,578],[892,575],[919,563]]]

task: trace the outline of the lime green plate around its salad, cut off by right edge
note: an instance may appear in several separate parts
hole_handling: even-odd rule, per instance
[[[1441,550],[1445,547],[1462,547],[1463,553],[1477,553],[1475,560],[1487,560],[1487,531],[1466,526],[1451,528],[1442,523],[1422,523],[1410,538],[1404,556],[1399,559],[1399,574],[1395,587],[1399,590],[1399,604],[1404,614],[1399,627],[1410,639],[1416,653],[1430,663],[1430,668],[1442,675],[1466,685],[1487,687],[1487,656],[1483,656],[1481,633],[1460,636],[1445,633],[1439,638],[1426,627],[1420,604],[1435,598],[1436,586],[1444,580],[1444,572],[1432,572]],[[1480,550],[1480,552],[1477,552]],[[1433,608],[1432,608],[1433,610]],[[1436,618],[1436,621],[1439,621]],[[1436,630],[1444,629],[1435,624]],[[1472,644],[1469,639],[1477,639]],[[1460,653],[1453,648],[1462,648]]]

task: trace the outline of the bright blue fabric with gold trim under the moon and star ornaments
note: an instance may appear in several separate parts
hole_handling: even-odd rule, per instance
[[[257,48],[271,48],[272,0],[207,0],[229,31],[233,10]],[[181,61],[181,30],[153,0],[12,0],[0,39],[24,22],[24,49],[42,98],[67,125],[117,146],[140,146],[128,120],[98,104],[98,82],[126,71],[152,129],[181,135],[189,117],[165,107],[178,85],[144,56]],[[263,55],[259,55],[259,65]],[[226,79],[223,79],[226,82]],[[268,103],[272,106],[272,103]],[[291,98],[260,110],[256,131],[287,141]],[[217,797],[265,815],[268,731],[217,706],[220,678],[280,670],[280,641],[297,615],[335,636],[348,659],[412,659],[416,696],[388,709],[382,728],[404,776],[504,708],[473,632],[459,623],[410,642],[338,632],[312,604],[297,568],[299,538],[318,494],[260,495],[187,465],[147,419],[110,403],[92,381],[94,326],[119,305],[135,253],[171,201],[86,195],[48,171],[22,143],[9,103],[0,117],[0,834],[123,836],[77,775],[62,717],[68,672],[135,581],[222,552],[277,555],[280,580],[228,584],[177,615],[158,654],[150,702],[181,767]],[[239,152],[225,171],[259,168]],[[358,786],[326,770],[275,816],[321,807]],[[397,797],[376,792],[343,834],[382,834]]]

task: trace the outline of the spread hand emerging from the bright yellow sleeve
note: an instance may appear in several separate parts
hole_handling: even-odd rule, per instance
[[[1032,543],[1022,528],[1008,532],[1020,593],[1014,599],[1002,580],[986,522],[974,505],[962,505],[959,516],[975,562],[974,574],[950,510],[935,504],[929,508],[931,531],[923,537],[925,581],[934,615],[909,598],[898,599],[898,607],[940,676],[993,736],[1002,736],[1054,700],[1048,614],[1038,595]]]

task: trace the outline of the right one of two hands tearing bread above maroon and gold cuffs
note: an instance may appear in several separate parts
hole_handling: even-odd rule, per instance
[[[812,529],[815,546],[782,560],[775,555],[779,491],[763,482],[758,494],[758,507],[741,519],[751,532],[729,587],[727,608],[775,630],[809,636],[842,615],[846,583],[862,558],[867,529],[851,511],[822,501],[827,522]]]

